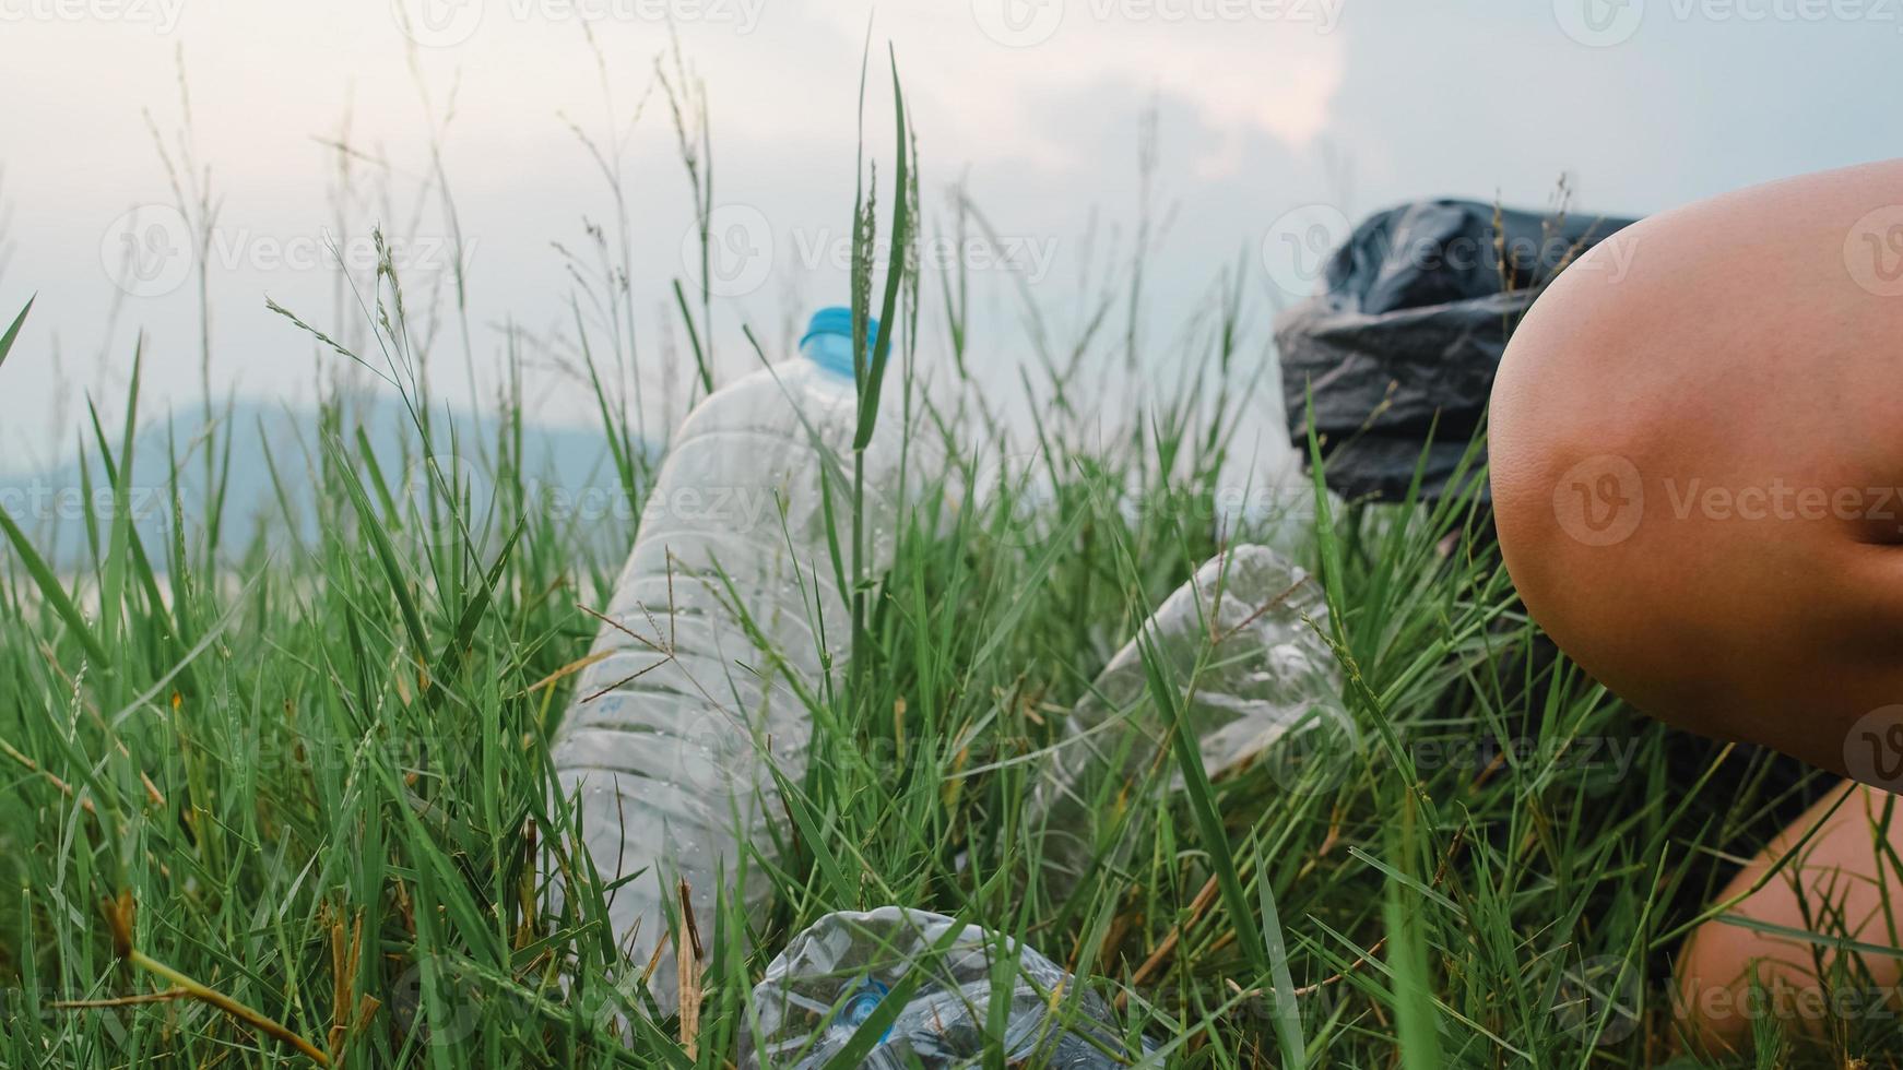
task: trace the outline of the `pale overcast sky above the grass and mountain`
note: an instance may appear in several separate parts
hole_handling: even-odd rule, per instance
[[[1226,266],[1246,264],[1260,308],[1304,285],[1277,258],[1290,220],[1340,226],[1427,196],[1540,207],[1562,173],[1581,209],[1640,215],[1903,146],[1903,0],[0,0],[0,312],[38,293],[0,369],[0,449],[65,452],[49,435],[65,426],[70,443],[61,418],[86,392],[114,401],[137,329],[152,405],[198,395],[192,260],[169,209],[152,207],[171,186],[147,120],[177,150],[181,57],[219,203],[221,388],[314,393],[333,357],[265,298],[343,336],[352,315],[335,306],[327,241],[362,260],[381,222],[413,236],[400,258],[419,287],[443,274],[449,228],[438,201],[417,200],[432,129],[464,236],[478,390],[504,323],[546,334],[571,321],[552,243],[582,247],[584,220],[613,219],[571,124],[628,137],[634,293],[643,359],[658,365],[668,287],[695,268],[668,108],[645,97],[670,13],[712,114],[729,295],[716,321],[733,371],[746,367],[727,344],[738,323],[778,340],[843,293],[868,19],[881,182],[891,44],[929,215],[946,222],[946,188],[963,179],[1001,238],[967,253],[990,283],[980,315],[999,369],[1022,355],[1012,274],[1062,321],[1083,266],[1127,247],[1151,108],[1153,198],[1168,217],[1148,258],[1159,353]],[[390,198],[360,192],[339,228],[325,139],[346,114],[360,190],[383,181]],[[461,384],[461,344],[440,359]],[[544,418],[590,418],[554,369],[531,378]]]

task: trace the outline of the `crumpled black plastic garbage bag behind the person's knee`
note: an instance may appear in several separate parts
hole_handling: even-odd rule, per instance
[[[1425,450],[1422,496],[1437,498],[1540,287],[1631,222],[1460,200],[1370,217],[1328,257],[1321,293],[1275,317],[1290,439],[1307,456],[1313,392],[1336,494],[1399,500]]]

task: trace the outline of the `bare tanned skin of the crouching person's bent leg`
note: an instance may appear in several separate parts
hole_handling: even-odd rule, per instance
[[[1562,272],[1501,361],[1488,452],[1507,570],[1638,709],[1903,789],[1899,416],[1903,162],[1656,215]],[[1867,821],[1819,850],[1882,872]],[[1775,884],[1736,912],[1789,918]],[[1680,975],[1730,984],[1753,952],[1793,958],[1713,922]],[[1808,971],[1798,958],[1775,969]],[[1869,965],[1895,983],[1895,960]],[[1688,1024],[1739,1036],[1696,1002]]]

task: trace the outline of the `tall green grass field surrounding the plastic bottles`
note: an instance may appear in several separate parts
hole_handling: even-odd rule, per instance
[[[915,190],[864,201],[864,247],[877,222],[904,249]],[[851,669],[814,699],[795,850],[765,926],[698,920],[696,1019],[649,1013],[647,964],[615,950],[613,889],[548,791],[546,743],[620,561],[594,549],[599,519],[546,509],[521,469],[520,369],[497,435],[443,424],[383,270],[352,355],[407,397],[415,439],[377,456],[331,399],[324,441],[270,458],[318,488],[314,540],[240,540],[183,506],[171,538],[141,538],[131,487],[202,466],[215,488],[228,430],[179,443],[171,471],[128,471],[137,401],[91,428],[105,483],[86,488],[86,568],[55,570],[30,525],[0,519],[0,1064],[727,1066],[775,950],[881,905],[1077,969],[1157,1064],[1673,1057],[1671,952],[1717,912],[1730,859],[1821,781],[1646,722],[1559,658],[1500,566],[1479,466],[1439,504],[1285,502],[1300,536],[1285,517],[1277,538],[1326,597],[1359,745],[1184,793],[1153,770],[1130,785],[1121,850],[1104,844],[1117,865],[1050,901],[1024,821],[1033,768],[1109,654],[1218,551],[1224,397],[1260,376],[1237,346],[1243,291],[1182,333],[1182,390],[1121,437],[1100,433],[1102,371],[1058,346],[1022,382],[1045,401],[1041,468],[1018,479],[982,460],[999,386],[965,376],[961,281],[921,285],[900,257],[862,260],[858,281],[860,314],[898,327],[862,390],[906,390],[925,352],[957,369],[967,401],[936,424],[965,458],[948,477],[965,506],[902,530],[885,574],[847,553]],[[702,333],[717,312],[670,296]],[[921,336],[925,304],[948,336]],[[626,416],[630,342],[580,331],[638,507],[651,458]],[[0,361],[42,357],[10,344]],[[1075,352],[1115,365],[1119,344]],[[683,380],[700,376],[717,386],[706,361]],[[845,487],[845,545],[853,502]],[[548,874],[567,882],[559,910]],[[1852,1059],[1897,1064],[1895,1021],[1766,1032],[1755,1064]]]

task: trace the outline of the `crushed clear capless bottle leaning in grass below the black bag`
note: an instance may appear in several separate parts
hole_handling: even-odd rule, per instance
[[[1315,770],[1344,768],[1355,728],[1334,652],[1317,633],[1326,621],[1321,587],[1265,545],[1235,545],[1205,563],[1144,621],[1142,635],[1176,688],[1187,688],[1203,663],[1186,694],[1184,728],[1212,779],[1273,760],[1283,787],[1315,789]],[[1031,798],[1052,899],[1077,888],[1100,832],[1125,810],[1127,785],[1159,760],[1178,768],[1163,753],[1167,728],[1132,639],[1077,701]],[[1180,787],[1182,775],[1170,783]]]

